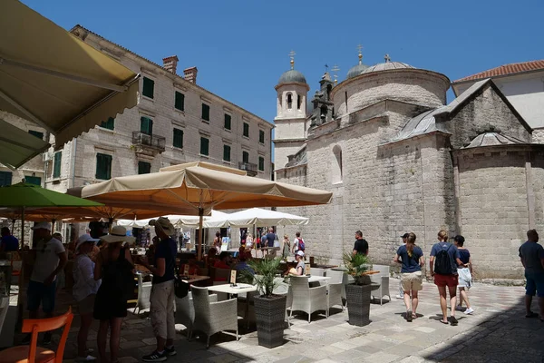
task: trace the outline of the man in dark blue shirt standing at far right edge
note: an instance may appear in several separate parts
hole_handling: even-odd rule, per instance
[[[526,318],[536,318],[538,315],[530,309],[532,297],[539,297],[540,321],[544,322],[544,248],[539,243],[539,233],[527,231],[527,242],[520,247],[520,260],[525,268],[525,309]]]

